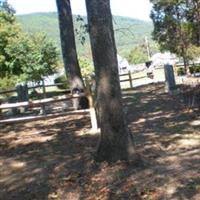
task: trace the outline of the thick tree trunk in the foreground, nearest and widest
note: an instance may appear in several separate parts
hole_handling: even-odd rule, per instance
[[[86,0],[86,5],[101,128],[96,159],[129,160],[134,148],[123,113],[110,1]]]

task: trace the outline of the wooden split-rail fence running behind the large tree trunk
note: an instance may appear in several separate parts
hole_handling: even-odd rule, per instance
[[[125,74],[120,74],[120,77],[125,77],[124,79],[120,80],[121,82],[128,82],[130,84],[130,88],[133,88],[133,80],[136,79],[140,79],[140,78],[144,78],[144,76],[142,77],[137,77],[137,78],[133,78],[133,74],[135,73],[131,73],[130,71],[125,73]],[[36,89],[36,88],[42,88],[42,87],[55,87],[55,86],[59,86],[62,85],[62,83],[58,83],[58,84],[52,84],[52,85],[36,85],[36,86],[32,86],[32,87],[28,87],[29,89]],[[0,95],[1,94],[6,94],[6,93],[13,93],[13,92],[17,92],[17,89],[12,89],[12,90],[7,90],[7,91],[0,91]],[[70,90],[66,90],[67,93],[70,93]],[[81,93],[79,95],[62,95],[62,96],[57,96],[57,97],[53,97],[53,98],[45,98],[43,97],[43,99],[39,99],[39,100],[28,100],[28,101],[22,101],[22,102],[16,102],[16,103],[4,103],[0,105],[0,112],[3,109],[16,109],[16,108],[33,108],[33,107],[41,107],[42,109],[45,109],[45,106],[47,106],[48,104],[51,103],[55,103],[55,102],[64,102],[67,100],[72,100],[74,98],[81,98],[83,96],[86,96],[84,93]],[[90,95],[87,95],[88,99],[89,99],[89,109],[86,110],[68,110],[67,112],[62,112],[62,113],[56,113],[56,114],[46,114],[45,112],[43,112],[43,115],[39,115],[39,116],[26,116],[26,117],[17,117],[17,118],[10,118],[10,119],[2,119],[0,120],[0,124],[7,124],[7,123],[15,123],[15,122],[21,122],[21,121],[29,121],[29,120],[36,120],[36,119],[43,119],[43,118],[50,118],[50,117],[56,117],[56,116],[62,116],[62,115],[74,115],[74,114],[90,114],[90,120],[91,120],[91,127],[93,130],[97,130],[98,126],[97,126],[97,119],[96,119],[96,114],[95,114],[95,109],[93,106],[93,100]]]

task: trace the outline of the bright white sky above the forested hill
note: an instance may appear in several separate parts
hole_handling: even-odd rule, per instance
[[[56,11],[56,0],[8,0],[16,14]],[[110,0],[113,15],[126,16],[141,20],[150,20],[151,4],[149,0]],[[74,14],[86,15],[85,0],[71,0]]]

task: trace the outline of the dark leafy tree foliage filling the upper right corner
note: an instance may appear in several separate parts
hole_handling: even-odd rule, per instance
[[[185,63],[199,56],[199,1],[151,0],[153,38],[161,50],[183,57]]]

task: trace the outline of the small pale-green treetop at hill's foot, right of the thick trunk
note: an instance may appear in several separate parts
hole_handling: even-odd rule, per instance
[[[147,50],[145,46],[135,47],[126,57],[128,62],[131,64],[144,63],[148,60]]]

